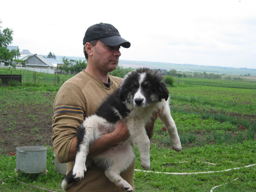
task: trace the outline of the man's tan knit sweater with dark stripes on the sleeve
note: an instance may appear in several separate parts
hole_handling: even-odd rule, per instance
[[[53,104],[53,152],[60,163],[68,162],[71,143],[75,137],[76,129],[82,124],[85,117],[93,114],[102,101],[115,91],[122,79],[109,76],[110,87],[107,88],[98,79],[81,71],[67,80],[58,91]],[[67,172],[74,166],[74,162],[68,162]],[[121,176],[133,186],[134,163]],[[111,191],[123,192],[105,177],[102,170],[95,165],[84,174],[84,179],[73,182],[67,191],[97,192]]]

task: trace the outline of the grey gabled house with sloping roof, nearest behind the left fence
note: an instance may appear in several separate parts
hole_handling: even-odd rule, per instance
[[[30,68],[39,68],[39,69],[57,69],[50,61],[41,55],[34,54],[32,56],[27,55],[21,60],[26,61],[26,66]]]

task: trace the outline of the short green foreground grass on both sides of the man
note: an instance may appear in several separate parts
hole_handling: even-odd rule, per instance
[[[159,147],[157,144],[152,144],[150,170],[153,172],[189,173],[242,167],[256,163],[255,150],[256,143],[253,141],[244,141],[236,144],[211,144],[203,147],[186,148],[181,152],[173,151],[169,147]],[[135,169],[142,169],[137,148],[135,148],[135,153]],[[52,191],[61,191],[60,183],[64,176],[54,171],[54,158],[51,147],[48,147],[47,150],[46,167],[48,174],[16,174],[14,171],[16,167],[15,159],[15,156],[0,156],[0,180],[4,182],[4,184],[0,185],[1,191],[13,191],[14,187],[16,192],[42,191],[20,184],[18,180]],[[179,163],[183,161],[187,162]],[[205,162],[215,163],[216,165],[210,165]],[[229,184],[225,186],[225,190],[249,192],[256,189],[255,173],[256,166],[229,172],[197,175],[169,175],[135,171],[135,186],[136,191],[210,191],[212,187],[230,182],[238,177],[238,180],[234,182],[235,185]]]

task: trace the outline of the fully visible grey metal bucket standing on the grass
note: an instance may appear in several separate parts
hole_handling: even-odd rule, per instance
[[[25,146],[16,148],[16,171],[24,173],[42,173],[46,171],[46,152],[43,146]]]

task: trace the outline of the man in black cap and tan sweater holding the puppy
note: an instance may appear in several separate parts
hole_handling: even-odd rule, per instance
[[[87,67],[79,74],[67,80],[58,91],[53,104],[53,151],[60,163],[68,162],[67,172],[73,166],[76,155],[76,129],[85,117],[93,114],[102,101],[118,89],[122,79],[108,73],[116,69],[121,53],[120,46],[129,48],[130,43],[121,38],[118,30],[106,23],[89,27],[83,38],[84,55]],[[153,117],[153,121],[156,117]],[[151,138],[154,123],[147,126]],[[129,137],[127,126],[120,121],[112,133],[103,134],[94,142],[88,157],[102,153],[106,149],[124,142]],[[133,184],[134,163],[121,176]],[[73,182],[67,191],[97,192],[122,191],[105,177],[103,170],[94,164],[87,169],[81,181]]]

